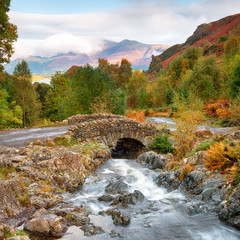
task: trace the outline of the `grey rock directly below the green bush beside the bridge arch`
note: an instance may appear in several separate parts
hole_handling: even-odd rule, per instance
[[[137,158],[137,162],[145,164],[149,169],[163,169],[171,159],[171,154],[157,154],[153,151],[145,152]]]

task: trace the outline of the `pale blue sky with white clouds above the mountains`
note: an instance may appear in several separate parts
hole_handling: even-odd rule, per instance
[[[93,54],[104,40],[183,43],[198,25],[236,13],[239,0],[11,0],[13,59]]]

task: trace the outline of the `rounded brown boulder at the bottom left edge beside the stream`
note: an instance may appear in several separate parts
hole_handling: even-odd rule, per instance
[[[63,225],[63,218],[54,214],[33,218],[24,226],[24,230],[34,236],[61,237],[67,227]]]

